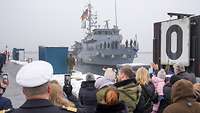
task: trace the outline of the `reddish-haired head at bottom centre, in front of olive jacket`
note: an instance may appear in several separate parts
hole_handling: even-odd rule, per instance
[[[119,92],[115,87],[109,87],[105,92],[105,104],[115,105],[119,102]]]

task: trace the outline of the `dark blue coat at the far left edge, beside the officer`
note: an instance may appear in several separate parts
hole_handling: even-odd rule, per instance
[[[12,109],[12,103],[10,99],[6,97],[0,97],[0,110]]]

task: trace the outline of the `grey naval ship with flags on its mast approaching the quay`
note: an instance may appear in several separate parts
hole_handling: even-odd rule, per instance
[[[109,20],[106,20],[103,27],[97,26],[97,15],[92,14],[91,8],[91,4],[88,4],[81,16],[86,36],[72,46],[77,61],[104,66],[132,63],[139,50],[137,39],[126,40],[123,44],[117,24],[109,28]]]

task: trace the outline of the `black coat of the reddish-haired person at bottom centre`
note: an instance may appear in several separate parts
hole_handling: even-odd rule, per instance
[[[121,102],[116,105],[97,104],[95,113],[128,113],[128,108]]]

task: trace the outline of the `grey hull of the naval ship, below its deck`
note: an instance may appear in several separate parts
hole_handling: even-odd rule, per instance
[[[94,65],[117,65],[123,63],[132,63],[137,50],[133,48],[123,48],[116,50],[88,51],[80,53],[77,57],[79,63]]]

